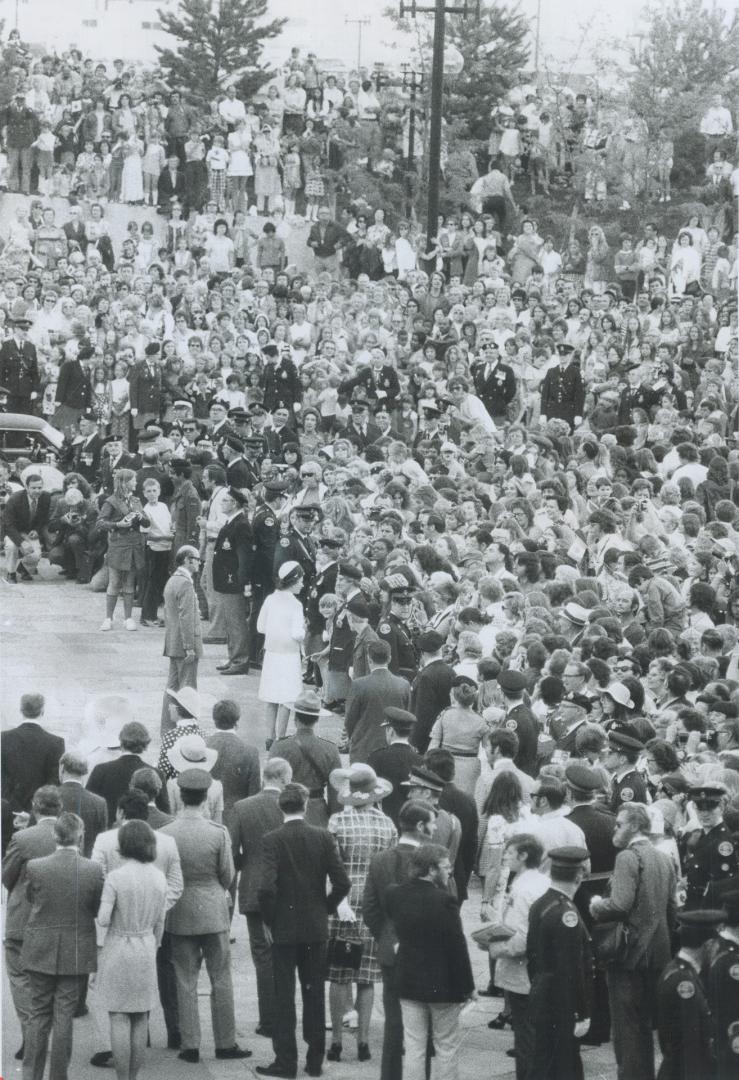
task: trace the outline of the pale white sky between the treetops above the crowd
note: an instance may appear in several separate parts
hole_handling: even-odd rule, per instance
[[[5,31],[14,25],[25,40],[54,44],[57,49],[75,42],[83,52],[106,58],[121,55],[126,59],[150,59],[157,35],[142,26],[157,18],[162,0],[0,0],[0,18]],[[164,0],[164,3],[174,0]],[[428,2],[428,0],[427,0]],[[433,2],[433,0],[431,0]],[[540,58],[552,57],[575,70],[589,71],[596,66],[593,51],[608,40],[622,39],[639,30],[643,0],[521,0],[521,10],[530,18],[535,37],[537,4],[540,8]],[[734,12],[739,0],[723,0],[722,6]],[[355,67],[359,27],[354,21],[368,19],[362,26],[362,64],[372,67],[376,59],[399,62],[411,41],[400,40],[392,24],[384,17],[388,0],[270,0],[270,17],[288,18],[282,36],[268,46],[267,57],[280,63],[292,45],[304,52],[314,51],[322,59]],[[96,23],[96,25],[90,25]],[[88,24],[88,25],[85,25]],[[39,28],[43,27],[43,36]],[[585,32],[583,32],[585,31]],[[159,36],[161,42],[162,36]],[[393,48],[394,44],[394,48]],[[534,50],[532,49],[532,56]]]

